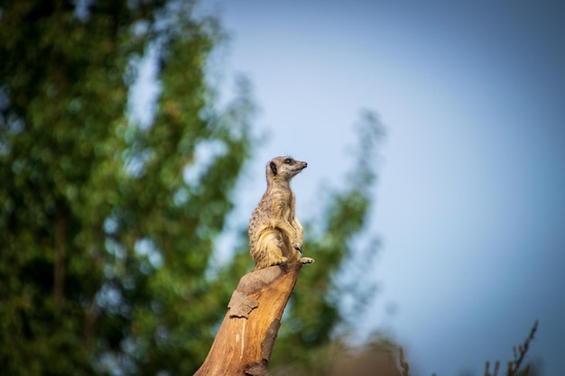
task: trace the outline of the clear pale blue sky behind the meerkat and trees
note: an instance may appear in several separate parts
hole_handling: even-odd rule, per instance
[[[359,335],[390,330],[417,374],[482,374],[537,318],[530,359],[565,374],[565,6],[205,5],[231,35],[225,81],[251,79],[256,130],[269,135],[237,213],[261,197],[264,163],[292,154],[309,162],[293,182],[298,215],[315,216],[321,182],[343,184],[353,124],[372,109],[387,133],[369,228],[383,247],[363,277],[380,289]]]

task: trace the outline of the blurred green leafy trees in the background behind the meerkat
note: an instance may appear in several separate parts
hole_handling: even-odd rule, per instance
[[[3,374],[191,374],[204,360],[252,265],[244,247],[209,270],[254,109],[245,81],[232,105],[215,106],[205,70],[222,35],[194,6],[0,2]],[[160,96],[150,124],[134,124],[134,62],[150,46]],[[373,115],[360,132],[350,185],[329,192],[324,216],[307,225],[304,250],[318,263],[301,273],[275,364],[308,362],[328,343],[350,306],[338,288],[365,296],[336,280],[355,267],[375,179]]]

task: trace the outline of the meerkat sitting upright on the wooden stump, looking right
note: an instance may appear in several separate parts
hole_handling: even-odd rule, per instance
[[[314,260],[301,257],[303,229],[294,214],[291,179],[308,163],[291,157],[276,157],[266,165],[267,190],[249,221],[250,253],[255,271],[273,265]]]

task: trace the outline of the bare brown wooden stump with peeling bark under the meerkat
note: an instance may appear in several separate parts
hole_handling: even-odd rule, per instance
[[[194,376],[267,376],[267,364],[301,263],[251,271],[239,280],[208,356]]]

